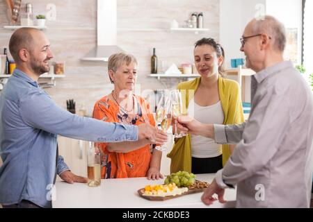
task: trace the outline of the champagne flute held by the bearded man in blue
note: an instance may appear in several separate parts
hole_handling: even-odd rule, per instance
[[[170,102],[170,97],[162,95],[161,99],[157,105],[157,111],[155,113],[155,120],[157,128],[160,125],[161,130],[164,132],[168,131],[170,128],[170,122],[172,121],[172,107]],[[165,151],[165,146],[156,146],[156,149],[159,151]]]

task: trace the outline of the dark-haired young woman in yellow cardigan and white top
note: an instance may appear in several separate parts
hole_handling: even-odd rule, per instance
[[[243,108],[239,84],[223,76],[224,50],[212,38],[195,42],[193,51],[195,67],[200,78],[179,83],[185,112],[202,123],[242,123]],[[170,171],[193,173],[216,173],[223,168],[234,145],[216,144],[213,139],[186,135],[175,139]]]

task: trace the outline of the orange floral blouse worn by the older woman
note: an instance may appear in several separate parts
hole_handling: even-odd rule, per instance
[[[125,123],[139,125],[149,122],[155,126],[155,121],[150,112],[150,105],[141,98],[134,95],[135,114],[132,118],[114,101],[109,95],[95,103],[93,118],[106,122]],[[152,157],[152,145],[147,144],[129,153],[115,153],[106,149],[108,143],[100,143],[99,146],[104,153],[102,157],[103,179],[107,178],[136,178],[144,177],[150,167]]]

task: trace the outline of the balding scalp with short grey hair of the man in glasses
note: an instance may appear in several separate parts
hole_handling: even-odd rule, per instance
[[[271,37],[273,48],[283,52],[286,46],[286,30],[284,25],[275,19],[275,17],[266,15],[252,19],[248,24],[251,27],[252,33],[265,33]]]

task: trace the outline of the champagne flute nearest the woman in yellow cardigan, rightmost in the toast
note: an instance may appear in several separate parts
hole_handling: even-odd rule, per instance
[[[177,117],[182,117],[182,94],[179,92],[178,89],[172,90],[172,117],[175,120],[175,135],[173,136],[174,138],[181,138],[186,135],[183,133],[178,133],[178,128],[177,128]]]

